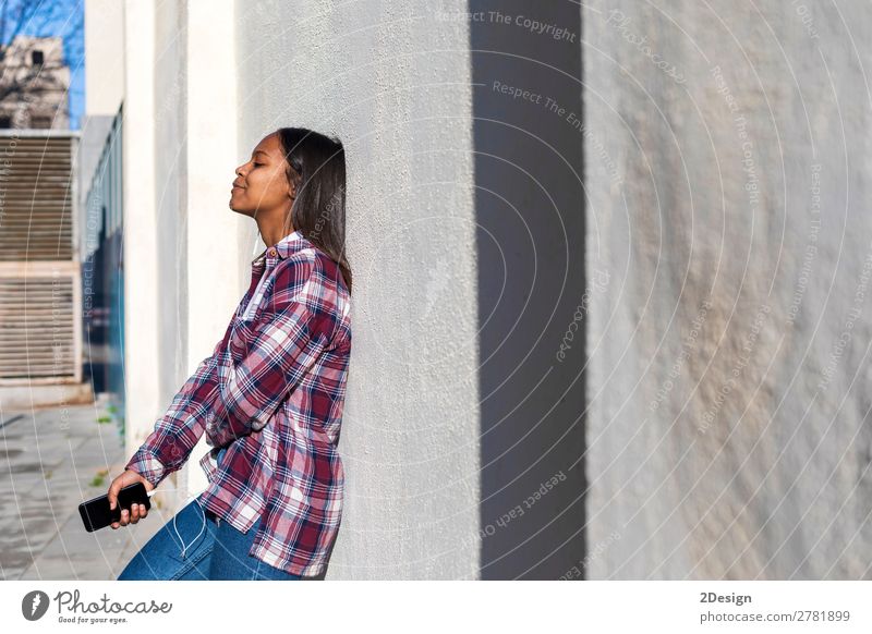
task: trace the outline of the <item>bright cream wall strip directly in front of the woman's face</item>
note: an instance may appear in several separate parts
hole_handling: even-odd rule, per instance
[[[182,361],[187,378],[223,337],[251,281],[253,256],[245,240],[250,220],[228,207],[233,170],[242,162],[237,151],[237,82],[234,73],[228,72],[237,65],[234,2],[191,0],[185,4],[186,71],[181,85],[186,100],[183,257],[187,283],[179,305],[186,316],[187,348]],[[196,462],[207,451],[203,439],[184,467],[192,490],[207,485]]]

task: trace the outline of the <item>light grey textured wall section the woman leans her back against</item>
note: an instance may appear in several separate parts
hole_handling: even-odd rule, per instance
[[[346,145],[353,352],[339,443],[346,507],[327,577],[474,577],[468,27],[387,1],[237,11],[240,156],[282,125]]]

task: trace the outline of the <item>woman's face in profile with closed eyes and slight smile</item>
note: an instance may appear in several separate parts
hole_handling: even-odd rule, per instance
[[[295,195],[284,175],[287,164],[278,135],[265,136],[255,146],[249,162],[237,168],[237,179],[230,190],[230,208],[252,218],[284,218]]]

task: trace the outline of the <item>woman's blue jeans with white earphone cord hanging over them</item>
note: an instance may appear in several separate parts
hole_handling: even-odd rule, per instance
[[[218,462],[225,451],[218,453]],[[227,522],[218,521],[196,498],[175,514],[174,521],[174,526],[171,519],[142,547],[118,581],[301,578],[249,554],[261,520],[247,533],[240,533]]]

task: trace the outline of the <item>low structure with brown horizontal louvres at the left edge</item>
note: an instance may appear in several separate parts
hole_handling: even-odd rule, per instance
[[[90,400],[82,376],[78,133],[0,131],[0,399]]]

